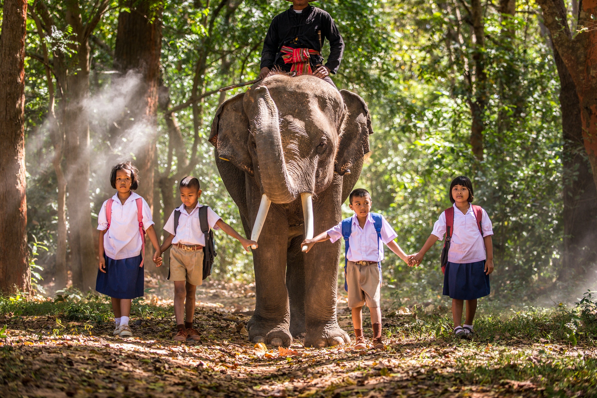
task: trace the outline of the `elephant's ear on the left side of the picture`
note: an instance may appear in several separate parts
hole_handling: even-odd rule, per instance
[[[232,162],[239,169],[253,174],[248,150],[249,120],[242,108],[244,93],[224,101],[211,123],[210,142],[221,160]]]

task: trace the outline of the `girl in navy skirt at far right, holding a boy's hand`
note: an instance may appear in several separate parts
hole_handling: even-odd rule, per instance
[[[484,209],[471,204],[473,197],[473,184],[469,178],[458,176],[453,179],[450,184],[453,206],[439,215],[421,251],[409,259],[410,265],[419,265],[427,250],[446,234],[442,251],[444,296],[452,298],[457,337],[472,337],[477,299],[490,294],[489,274],[494,269],[491,220]],[[464,300],[466,318],[461,325]]]

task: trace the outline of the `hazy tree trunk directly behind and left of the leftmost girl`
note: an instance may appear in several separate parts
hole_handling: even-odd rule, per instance
[[[82,291],[93,290],[96,285],[97,256],[91,226],[91,200],[89,189],[90,136],[89,119],[84,101],[89,95],[89,41],[81,20],[78,2],[67,2],[66,19],[73,26],[72,46],[76,50],[75,65],[78,69],[66,77],[64,91],[65,131],[64,155],[68,184],[69,243],[73,286]]]

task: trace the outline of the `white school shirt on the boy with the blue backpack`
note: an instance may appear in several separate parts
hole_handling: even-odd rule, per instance
[[[330,235],[330,241],[332,243],[343,238],[342,222],[328,229],[328,235]],[[356,214],[354,214],[352,216],[352,228],[350,228],[350,238],[348,238],[349,247],[346,258],[349,261],[364,260],[380,262],[383,260],[383,245],[387,245],[397,236],[398,235],[392,226],[390,226],[386,219],[381,216],[381,239],[379,247],[377,247],[377,232],[371,213],[367,214],[364,228],[361,228],[359,220],[356,218]]]

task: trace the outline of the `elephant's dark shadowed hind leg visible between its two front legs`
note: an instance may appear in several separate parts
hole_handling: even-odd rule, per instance
[[[290,239],[286,266],[286,288],[290,301],[290,334],[297,337],[304,327],[304,257],[300,250],[303,235]]]

